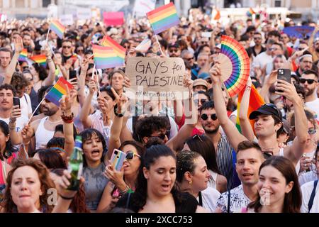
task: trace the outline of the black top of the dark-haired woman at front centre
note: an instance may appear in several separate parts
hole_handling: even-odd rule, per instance
[[[181,193],[181,199],[177,199],[176,196],[173,196],[175,202],[175,213],[195,213],[198,204],[198,201],[194,196],[187,192]],[[134,193],[127,193],[118,200],[116,207],[121,207],[125,209],[130,209],[135,213],[138,213],[138,208],[133,205],[133,200],[137,199],[134,196]]]

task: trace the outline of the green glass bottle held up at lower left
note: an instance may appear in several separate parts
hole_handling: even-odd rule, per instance
[[[79,189],[79,179],[82,176],[83,170],[82,137],[79,135],[75,138],[75,145],[69,159],[68,170],[71,174],[71,179],[69,179],[70,185],[67,189],[77,191]]]

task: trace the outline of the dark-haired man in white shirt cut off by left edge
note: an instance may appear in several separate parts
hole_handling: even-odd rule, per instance
[[[10,84],[0,86],[0,120],[9,124],[9,128],[13,131],[21,131],[23,126],[28,122],[26,116],[21,116],[21,109],[19,106],[13,106],[13,96],[16,95],[13,87]],[[16,113],[17,117],[10,119],[11,112]],[[12,122],[11,122],[12,121]],[[13,123],[14,121],[14,123]]]

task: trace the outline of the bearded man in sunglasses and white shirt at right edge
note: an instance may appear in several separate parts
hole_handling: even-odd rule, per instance
[[[306,106],[315,111],[315,114],[317,115],[317,121],[319,121],[319,99],[316,94],[316,89],[318,87],[318,72],[306,70],[301,75],[299,83],[306,92]]]

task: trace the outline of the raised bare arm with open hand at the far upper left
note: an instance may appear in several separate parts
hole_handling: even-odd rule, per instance
[[[11,62],[8,68],[6,69],[6,73],[4,74],[5,76],[4,84],[11,84],[13,72],[16,71],[16,63],[18,62],[18,57],[20,55],[20,52],[23,50],[23,41],[20,36],[17,36],[17,38],[13,40],[13,43],[14,43],[14,55],[11,59]]]

